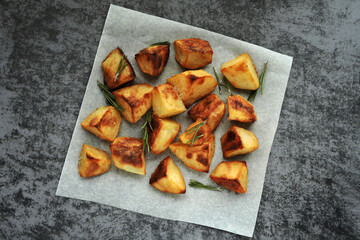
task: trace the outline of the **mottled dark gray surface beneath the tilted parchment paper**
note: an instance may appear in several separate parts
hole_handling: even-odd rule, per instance
[[[0,2],[0,238],[242,238],[55,196],[114,3],[293,56],[254,239],[359,239],[359,1],[34,2]]]

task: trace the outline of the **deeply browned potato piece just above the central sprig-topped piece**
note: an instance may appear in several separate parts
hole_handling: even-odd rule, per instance
[[[225,115],[225,111],[225,103],[213,93],[192,107],[188,111],[188,114],[193,120],[198,118],[201,118],[203,121],[206,120],[211,132],[213,132],[221,122],[221,119]]]

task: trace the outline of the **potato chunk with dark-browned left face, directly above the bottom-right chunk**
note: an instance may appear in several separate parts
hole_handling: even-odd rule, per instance
[[[255,151],[259,142],[255,134],[241,127],[232,126],[221,137],[221,148],[224,158]]]

